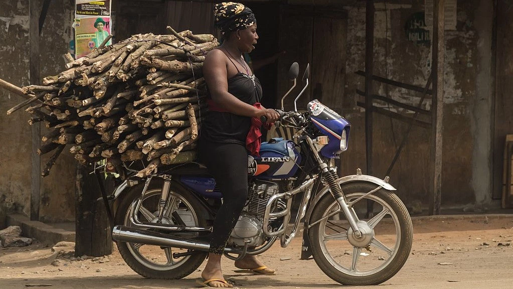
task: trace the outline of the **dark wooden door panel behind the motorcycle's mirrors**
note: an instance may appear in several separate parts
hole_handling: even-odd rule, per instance
[[[285,76],[290,65],[298,62],[300,67],[298,86],[285,100],[285,109],[293,108],[294,98],[304,86],[302,73],[309,63],[310,84],[298,100],[298,110],[305,110],[310,100],[318,99],[335,111],[340,111],[345,88],[346,11],[283,5],[279,27],[280,49],[287,53],[279,61],[278,95],[283,95],[290,88]]]

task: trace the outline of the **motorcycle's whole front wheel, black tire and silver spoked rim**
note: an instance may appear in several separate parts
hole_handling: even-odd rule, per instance
[[[342,190],[348,203],[377,187],[373,183],[348,183]],[[367,202],[373,201],[373,216],[366,219]],[[308,231],[315,262],[331,279],[344,285],[374,285],[385,282],[404,265],[411,251],[413,226],[401,200],[384,188],[352,205],[362,237],[354,236],[339,204],[326,194],[315,205]]]

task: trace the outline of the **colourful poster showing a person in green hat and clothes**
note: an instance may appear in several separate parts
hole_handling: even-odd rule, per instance
[[[100,46],[110,34],[110,17],[84,17],[75,19],[75,58],[89,54]],[[110,45],[109,40],[105,45]]]

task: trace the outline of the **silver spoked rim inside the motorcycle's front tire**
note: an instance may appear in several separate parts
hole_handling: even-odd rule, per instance
[[[365,193],[354,193],[346,196],[348,202],[356,200]],[[374,201],[372,218],[365,219],[366,201]],[[328,262],[344,274],[363,277],[376,274],[388,266],[398,253],[401,241],[399,218],[390,205],[375,195],[368,195],[353,204],[360,221],[364,226],[362,238],[356,238],[348,222],[336,220],[337,215],[327,218],[319,225],[319,243]],[[333,200],[323,217],[340,211],[339,205]],[[370,249],[370,251],[368,250]]]

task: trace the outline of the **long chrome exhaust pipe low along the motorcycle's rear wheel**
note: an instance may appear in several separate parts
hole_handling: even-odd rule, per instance
[[[112,239],[118,242],[139,243],[162,247],[175,247],[208,252],[210,244],[197,240],[184,239],[159,232],[116,225],[112,229]],[[240,250],[225,248],[226,253],[240,254]]]

